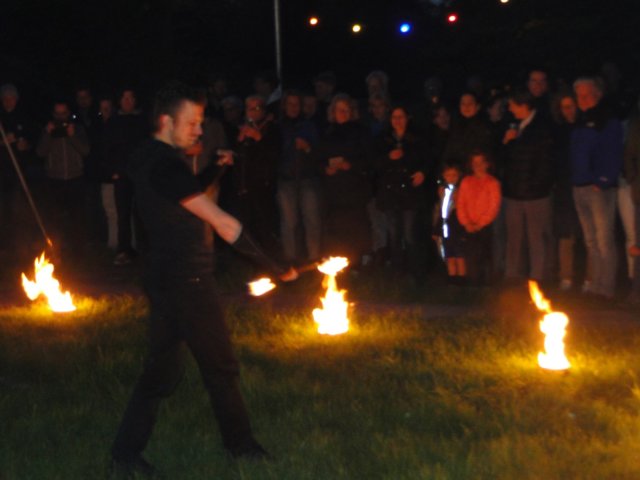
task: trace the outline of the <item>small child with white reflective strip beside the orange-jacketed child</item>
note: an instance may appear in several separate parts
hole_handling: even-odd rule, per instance
[[[434,212],[436,228],[433,239],[439,243],[442,257],[446,261],[449,282],[456,285],[462,284],[466,275],[462,255],[464,230],[456,216],[456,199],[461,177],[460,167],[453,163],[444,165],[442,168],[444,185],[438,190],[440,202],[436,204]]]

